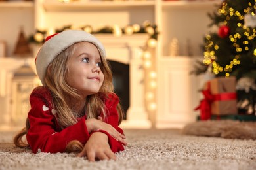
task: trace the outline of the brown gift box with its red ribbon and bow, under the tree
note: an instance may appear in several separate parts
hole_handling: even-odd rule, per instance
[[[205,83],[202,93],[204,99],[195,108],[200,109],[201,120],[209,120],[213,115],[238,114],[235,77],[213,78]]]

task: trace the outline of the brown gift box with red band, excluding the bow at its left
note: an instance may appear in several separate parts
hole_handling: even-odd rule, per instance
[[[209,81],[209,88],[211,95],[213,95],[212,115],[238,114],[235,77],[213,78]]]

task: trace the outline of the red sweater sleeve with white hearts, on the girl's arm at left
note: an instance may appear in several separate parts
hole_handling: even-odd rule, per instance
[[[44,95],[45,93],[38,94],[35,92],[30,95],[32,108],[28,113],[30,128],[26,137],[32,151],[34,153],[38,151],[65,152],[66,145],[73,140],[78,140],[85,144],[89,139],[85,118],[81,118],[73,126],[66,127],[60,131],[54,118],[56,111],[52,109],[49,102],[45,102],[47,96]]]

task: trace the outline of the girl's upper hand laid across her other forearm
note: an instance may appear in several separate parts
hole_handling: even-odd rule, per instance
[[[127,145],[127,142],[124,140],[125,135],[119,133],[110,124],[103,122],[102,118],[100,116],[98,117],[98,120],[96,120],[95,118],[89,118],[89,119],[85,120],[85,123],[86,123],[87,130],[89,133],[91,133],[92,131],[101,129],[101,130],[108,132],[112,137],[114,137],[114,139],[119,141],[121,144]]]

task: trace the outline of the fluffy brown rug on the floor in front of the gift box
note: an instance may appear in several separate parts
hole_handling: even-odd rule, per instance
[[[229,139],[256,139],[256,122],[234,120],[207,120],[188,124],[183,131],[186,135],[224,137]]]

